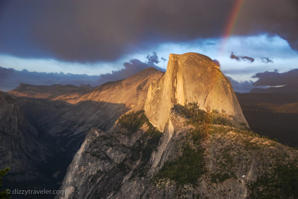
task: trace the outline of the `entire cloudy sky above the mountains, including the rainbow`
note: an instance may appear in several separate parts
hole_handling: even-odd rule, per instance
[[[95,87],[186,52],[213,59],[237,92],[298,84],[297,11],[297,0],[0,0],[0,90]]]

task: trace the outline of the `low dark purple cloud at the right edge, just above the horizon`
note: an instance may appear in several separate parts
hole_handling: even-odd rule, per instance
[[[288,72],[279,73],[274,72],[257,73],[253,78],[259,78],[253,83],[254,86],[280,86],[288,84],[298,84],[298,68],[289,70]]]

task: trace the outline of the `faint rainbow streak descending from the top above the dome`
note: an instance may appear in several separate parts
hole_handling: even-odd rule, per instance
[[[231,10],[231,14],[229,15],[229,19],[228,19],[228,23],[226,24],[226,28],[224,30],[224,34],[222,36],[222,40],[221,40],[221,47],[220,47],[220,55],[222,55],[222,53],[225,50],[226,47],[226,43],[230,37],[230,35],[232,35],[233,30],[235,28],[235,25],[237,23],[237,19],[239,17],[239,13],[241,10],[241,7],[243,6],[243,2],[244,0],[236,0],[235,4]]]

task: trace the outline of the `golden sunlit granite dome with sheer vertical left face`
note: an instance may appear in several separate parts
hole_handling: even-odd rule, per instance
[[[188,103],[247,124],[232,85],[212,59],[198,53],[170,54],[165,75],[148,89],[146,115],[164,131],[173,104]]]

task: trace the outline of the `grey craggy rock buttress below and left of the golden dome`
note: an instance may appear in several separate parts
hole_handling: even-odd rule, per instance
[[[109,132],[92,128],[69,165],[60,188],[65,194],[56,198],[121,198],[122,192],[140,198],[149,179],[139,176],[151,165],[153,147],[147,130],[146,123],[134,133],[120,124]]]

